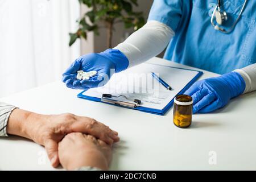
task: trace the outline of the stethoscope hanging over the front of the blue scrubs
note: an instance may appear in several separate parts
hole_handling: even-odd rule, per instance
[[[238,20],[240,19],[241,15],[243,13],[243,10],[245,9],[246,3],[247,3],[247,0],[245,0],[245,2],[243,3],[242,9],[241,9],[240,13],[238,14],[238,17],[237,17],[236,21],[233,23],[233,25],[228,30],[225,30],[224,28],[221,28],[218,25],[222,25],[223,22],[228,20],[228,14],[226,14],[226,11],[221,11],[221,2],[220,2],[220,0],[218,0],[218,5],[215,7],[213,14],[212,14],[212,18],[210,19],[210,23],[212,24],[214,29],[221,31],[225,34],[228,34],[229,32],[231,32],[234,29],[234,27],[236,26]],[[218,23],[218,25],[214,24],[214,22],[213,22],[214,16],[216,17],[215,20]]]

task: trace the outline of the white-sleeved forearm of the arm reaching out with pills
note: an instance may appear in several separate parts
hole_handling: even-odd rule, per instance
[[[173,36],[166,24],[151,20],[114,49],[124,53],[133,67],[161,53]]]

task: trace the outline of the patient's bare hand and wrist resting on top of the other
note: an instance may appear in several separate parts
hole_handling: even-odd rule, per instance
[[[103,123],[73,114],[42,115],[15,109],[7,125],[8,134],[34,140],[46,147],[53,167],[59,165],[58,143],[65,134],[73,132],[93,135],[108,144],[119,141],[118,133]]]

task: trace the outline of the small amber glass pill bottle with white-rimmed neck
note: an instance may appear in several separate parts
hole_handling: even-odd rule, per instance
[[[192,123],[193,99],[191,96],[179,95],[174,100],[174,125],[181,128]]]

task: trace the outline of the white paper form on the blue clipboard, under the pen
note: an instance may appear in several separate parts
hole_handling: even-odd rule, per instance
[[[172,87],[164,88],[152,77],[154,72]],[[199,74],[198,71],[143,63],[126,71],[115,73],[108,84],[89,89],[82,95],[101,98],[102,94],[112,94],[118,101],[141,100],[139,107],[162,110],[180,91]]]

